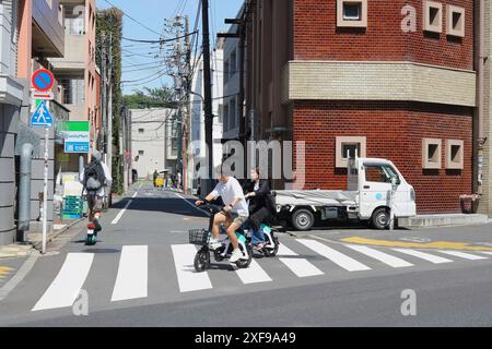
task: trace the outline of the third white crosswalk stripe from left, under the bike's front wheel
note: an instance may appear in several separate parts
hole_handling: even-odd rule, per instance
[[[192,244],[173,244],[173,257],[180,292],[198,291],[212,288],[207,272],[195,270],[194,261],[197,248]]]

